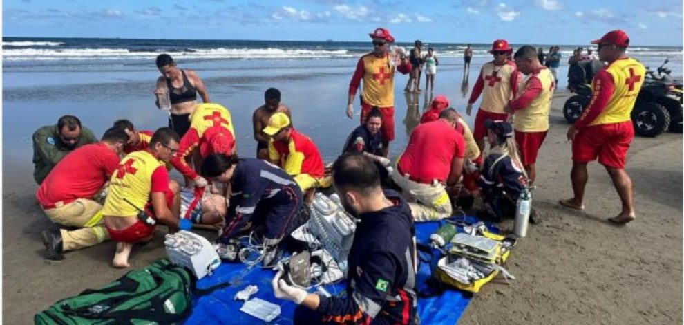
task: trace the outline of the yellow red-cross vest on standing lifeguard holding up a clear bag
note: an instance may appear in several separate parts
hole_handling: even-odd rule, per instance
[[[390,65],[390,57],[376,57],[367,54],[362,57],[363,102],[370,106],[395,106],[395,67]]]

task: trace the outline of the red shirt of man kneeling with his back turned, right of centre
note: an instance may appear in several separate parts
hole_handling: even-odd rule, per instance
[[[451,171],[451,160],[463,158],[466,145],[463,136],[446,120],[419,124],[399,158],[399,172],[408,174],[419,183],[433,180],[445,182]]]

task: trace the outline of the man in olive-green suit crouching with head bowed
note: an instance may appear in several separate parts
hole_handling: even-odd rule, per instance
[[[61,158],[78,147],[97,142],[93,131],[81,126],[81,120],[73,115],[64,115],[57,125],[46,125],[37,129],[33,139],[33,179],[38,185],[48,177],[50,170]]]

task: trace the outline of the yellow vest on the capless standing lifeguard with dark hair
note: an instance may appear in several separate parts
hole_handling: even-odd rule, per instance
[[[513,114],[513,128],[522,132],[541,132],[549,129],[549,111],[553,100],[554,78],[548,68],[533,73],[542,84],[542,91],[524,109]],[[521,90],[522,91],[522,90]]]

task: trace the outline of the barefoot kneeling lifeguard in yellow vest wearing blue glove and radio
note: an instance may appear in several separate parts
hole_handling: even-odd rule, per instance
[[[192,228],[191,221],[179,219],[180,186],[169,179],[164,167],[178,151],[179,141],[172,129],[158,129],[150,147],[126,155],[111,176],[102,215],[111,240],[117,243],[115,268],[129,267],[133,244],[150,241],[156,223],[168,225],[171,232]]]

